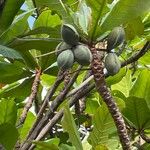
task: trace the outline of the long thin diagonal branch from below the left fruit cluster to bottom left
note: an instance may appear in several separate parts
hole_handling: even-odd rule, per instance
[[[80,66],[79,68],[81,69],[82,67]],[[80,70],[74,74],[74,76],[72,77],[72,79],[70,80],[70,82],[68,83],[66,88],[52,101],[50,109],[47,111],[45,116],[43,116],[43,118],[38,122],[38,125],[34,128],[33,132],[27,139],[28,141],[34,140],[36,138],[36,136],[38,135],[38,133],[40,132],[40,130],[43,128],[43,126],[47,123],[47,121],[52,118],[52,116],[54,115],[53,112],[58,108],[58,106],[65,99],[71,86],[73,85],[76,78],[78,77],[79,72],[80,72]],[[23,143],[22,149],[26,150],[30,147],[30,145],[31,145],[31,143]]]

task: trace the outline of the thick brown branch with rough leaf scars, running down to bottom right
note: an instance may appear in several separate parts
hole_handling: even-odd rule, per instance
[[[112,115],[112,118],[114,119],[123,150],[131,150],[130,140],[127,134],[124,119],[105,82],[102,61],[99,60],[98,53],[95,48],[92,48],[91,52],[93,54],[92,73],[94,75],[97,91],[102,96],[109,112]]]

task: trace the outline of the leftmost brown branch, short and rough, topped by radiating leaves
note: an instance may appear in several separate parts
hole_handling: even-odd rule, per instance
[[[37,70],[35,79],[33,81],[31,94],[30,94],[28,101],[23,109],[23,112],[21,114],[21,117],[19,119],[19,123],[17,126],[20,126],[21,124],[24,123],[24,121],[27,117],[28,111],[31,108],[33,101],[36,99],[36,95],[37,95],[38,87],[39,87],[39,83],[40,83],[40,75],[41,75],[41,70]]]

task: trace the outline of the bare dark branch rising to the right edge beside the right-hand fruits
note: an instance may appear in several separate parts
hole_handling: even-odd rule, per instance
[[[136,54],[134,54],[133,56],[131,56],[130,58],[128,58],[126,61],[124,61],[121,64],[121,67],[127,66],[128,64],[131,64],[135,61],[137,61],[139,58],[141,58],[148,50],[150,49],[150,42],[146,42],[146,44],[144,45],[144,47]]]

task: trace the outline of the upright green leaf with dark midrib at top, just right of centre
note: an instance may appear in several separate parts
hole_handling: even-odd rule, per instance
[[[100,29],[98,28],[102,21],[102,16],[108,12],[106,0],[86,0],[88,6],[92,9],[92,23],[90,37],[92,40],[100,35]]]

